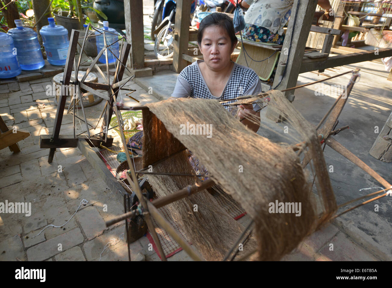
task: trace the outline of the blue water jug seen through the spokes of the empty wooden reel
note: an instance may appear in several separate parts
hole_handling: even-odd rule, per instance
[[[102,32],[102,35],[100,35],[98,33],[98,31],[95,32],[95,34],[97,35],[95,37],[96,37],[96,44],[97,44],[98,53],[100,53],[101,49],[105,46],[103,44],[103,31],[116,34],[116,35],[113,35],[111,33],[105,33],[106,34],[106,45],[110,45],[111,43],[114,43],[118,40],[118,32],[116,31],[116,29],[109,28],[109,22],[103,21],[103,29],[100,30],[100,32]],[[109,47],[113,51],[114,55],[116,55],[117,57],[120,56],[119,47],[120,46],[119,46],[118,42],[114,43],[114,45]],[[106,63],[105,52],[106,51],[104,51],[102,56],[98,59],[98,61],[101,63]],[[107,50],[107,61],[109,63],[113,63],[116,60],[117,60],[117,58],[113,56],[111,51]]]

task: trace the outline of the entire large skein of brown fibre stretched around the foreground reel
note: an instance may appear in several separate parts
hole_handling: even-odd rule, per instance
[[[286,107],[290,103],[287,104],[285,102],[287,99],[283,96],[285,99],[283,100],[283,94],[280,94],[274,95],[278,99],[274,105],[287,108],[285,112],[286,116],[292,119],[290,123],[304,130],[302,133],[307,135],[305,140],[309,145],[309,153],[314,156],[316,175],[320,176],[321,181],[326,182],[325,185],[321,182],[323,188],[320,194],[324,210],[320,220],[314,195],[311,192],[311,182],[307,181],[297,154],[292,149],[287,149],[287,146],[273,143],[247,129],[218,101],[180,98],[148,104],[150,110],[143,111],[144,167],[185,147],[191,150],[207,168],[209,177],[219,183],[227,194],[232,195],[254,219],[256,224],[254,234],[258,242],[260,260],[279,260],[296,248],[317,226],[324,223],[336,209],[317,136],[306,120],[301,122],[304,119],[298,111],[293,107]],[[180,125],[187,122],[212,125],[212,137],[181,134]],[[150,130],[151,128],[157,130]],[[155,134],[156,131],[158,134]],[[159,169],[153,168],[161,172],[167,172],[168,168],[169,172],[192,172],[189,170],[191,167],[183,152],[179,153],[175,160],[169,158]],[[149,181],[152,182],[156,192],[165,190],[164,194],[167,195],[192,184],[194,179],[179,176],[171,176],[167,179],[163,176],[154,176],[149,177]],[[216,213],[218,205],[212,201],[213,199],[209,199],[208,193],[201,192],[193,196],[197,198],[183,199],[181,201],[185,202],[181,205],[176,204],[179,201],[171,204],[173,219],[181,223],[192,244],[203,256],[208,255],[212,250],[214,254],[212,258],[219,260],[219,257],[230,248],[230,243],[232,244],[238,237],[239,227],[231,221],[227,222],[230,223],[230,225],[226,224],[227,227],[223,225],[229,219],[223,220],[224,215]],[[301,203],[301,216],[296,216],[295,213],[270,213],[269,203],[275,203],[276,200],[283,203]],[[199,211],[208,209],[212,214],[208,212],[201,216],[192,213],[191,206],[197,204],[195,201],[205,203],[203,209],[199,208]],[[214,213],[217,216],[214,217]],[[229,235],[236,234],[236,236],[229,237],[229,241],[225,241],[226,238],[221,239],[221,234],[227,235],[226,230],[230,230]],[[222,242],[224,245],[221,245]]]

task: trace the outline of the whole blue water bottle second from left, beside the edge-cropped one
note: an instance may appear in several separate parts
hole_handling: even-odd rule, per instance
[[[45,61],[41,53],[37,33],[31,28],[23,27],[22,20],[14,20],[16,28],[9,29],[7,34],[14,40],[16,58],[22,70],[35,70],[44,67]]]

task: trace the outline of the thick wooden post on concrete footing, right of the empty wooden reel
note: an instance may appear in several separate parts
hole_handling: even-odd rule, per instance
[[[131,3],[132,2],[132,3]],[[127,42],[131,42],[132,69],[144,68],[143,0],[124,0]]]

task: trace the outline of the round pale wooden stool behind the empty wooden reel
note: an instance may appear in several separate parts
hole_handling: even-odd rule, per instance
[[[78,80],[82,80],[84,74],[85,74],[85,71],[78,71]],[[54,97],[54,103],[56,103],[56,105],[58,105],[58,99],[60,97],[61,85],[62,85],[60,81],[63,80],[63,75],[64,75],[64,72],[61,72],[52,78],[52,82],[56,86],[55,87],[56,96]],[[72,78],[75,79],[75,71],[72,71],[71,80],[72,80]],[[98,77],[94,73],[90,72],[87,75],[85,82],[96,83],[96,82],[98,82]],[[81,89],[80,91],[83,92],[83,96],[82,96],[83,107],[89,107],[89,106],[96,105],[103,100],[102,98],[100,98],[98,96],[94,96],[91,92],[86,92],[84,89]],[[65,91],[65,93],[66,92],[67,91]],[[76,92],[75,85],[70,84],[68,87],[68,95],[74,95],[75,92]],[[87,96],[88,98],[86,99],[85,96]],[[71,98],[72,97],[69,97],[69,98],[67,97],[67,102],[65,104],[65,108],[68,108],[68,105],[71,104]],[[76,105],[76,107],[81,108],[80,103],[78,103]]]

